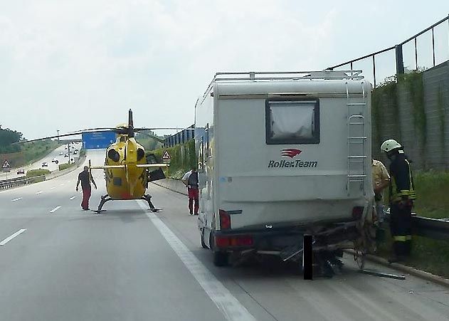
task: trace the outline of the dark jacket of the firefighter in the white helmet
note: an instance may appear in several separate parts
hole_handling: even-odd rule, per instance
[[[390,202],[416,199],[410,163],[403,153],[396,154],[390,164]]]

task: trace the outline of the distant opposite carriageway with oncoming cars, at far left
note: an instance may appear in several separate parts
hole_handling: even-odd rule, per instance
[[[73,147],[77,148],[77,149],[81,149],[82,144],[80,142],[78,142],[78,143],[75,143],[74,145],[70,146],[70,158],[75,160],[76,158],[79,157],[79,154],[75,154],[75,155],[73,154],[73,149],[74,149]],[[41,169],[41,168],[48,169],[51,172],[56,171],[56,170],[58,170],[59,164],[68,162],[68,157],[64,157],[64,155],[68,152],[68,150],[66,148],[67,148],[66,144],[63,146],[60,146],[60,147],[54,149],[53,151],[51,151],[46,157],[43,157],[42,159],[39,159],[38,161],[33,162],[32,164],[29,164],[28,166],[19,167],[19,168],[25,169],[25,173],[26,173],[26,171],[28,171],[30,169]],[[63,154],[60,155],[60,153],[63,153]],[[51,162],[55,158],[58,159],[59,164],[55,164],[55,163]],[[48,164],[48,167],[42,167],[43,162],[46,162]],[[17,168],[17,169],[19,169],[19,168]],[[11,169],[11,172],[9,172],[9,173],[1,172],[1,169],[0,169],[0,180],[6,179],[6,178],[12,179],[15,177],[24,176],[23,174],[17,174],[17,169]]]

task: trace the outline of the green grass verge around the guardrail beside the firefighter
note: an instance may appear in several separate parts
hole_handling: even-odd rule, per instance
[[[413,211],[418,216],[434,219],[449,218],[449,173],[421,172],[414,175],[416,194]],[[386,227],[385,241],[379,244],[377,254],[391,255],[391,236]],[[413,236],[411,258],[405,262],[420,270],[449,278],[449,241],[438,241]]]

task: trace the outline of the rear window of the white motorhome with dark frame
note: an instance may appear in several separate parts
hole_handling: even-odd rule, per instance
[[[267,144],[318,144],[318,100],[267,100]]]

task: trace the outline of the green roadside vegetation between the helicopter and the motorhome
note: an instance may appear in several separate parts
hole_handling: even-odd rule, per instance
[[[189,140],[185,144],[174,147],[159,148],[152,151],[159,159],[165,151],[171,156],[170,166],[165,172],[167,177],[181,179],[185,172],[188,172],[192,166],[196,166],[195,141]]]

